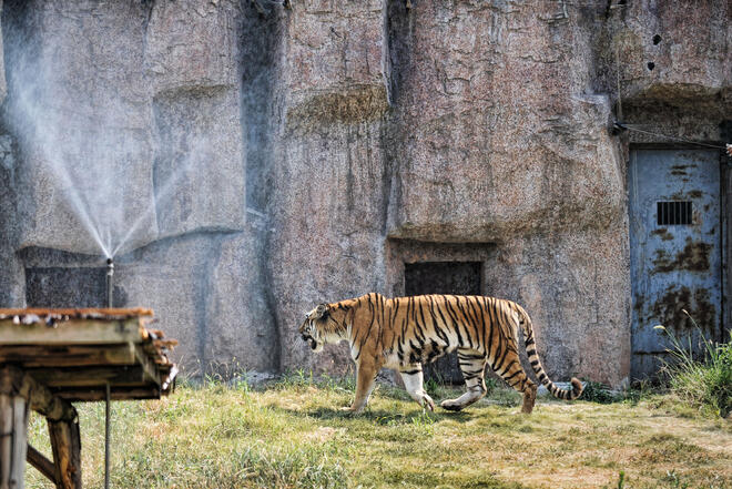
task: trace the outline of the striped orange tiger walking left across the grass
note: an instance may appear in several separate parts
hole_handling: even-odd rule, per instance
[[[423,408],[435,410],[435,401],[423,387],[423,363],[457,349],[466,391],[440,406],[459,411],[486,395],[486,364],[510,387],[523,395],[521,412],[530,414],[537,385],[521,367],[518,328],[523,332],[526,353],[539,381],[559,399],[577,399],[582,384],[575,377],[571,389],[560,389],[543,371],[537,355],[531,319],[512,300],[487,296],[419,295],[387,298],[372,293],[337,303],[319,304],[306,313],[298,329],[314,353],[326,344],[347,340],[356,364],[356,396],[353,412],[363,411],[384,368],[399,373],[409,396]]]

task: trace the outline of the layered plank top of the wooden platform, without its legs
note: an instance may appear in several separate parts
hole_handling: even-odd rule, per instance
[[[149,399],[169,394],[175,340],[148,329],[150,309],[0,309],[0,365],[14,365],[59,397]]]

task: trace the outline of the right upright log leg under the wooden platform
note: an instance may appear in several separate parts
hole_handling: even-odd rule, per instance
[[[79,421],[49,420],[54,478],[60,489],[81,489],[81,436]]]

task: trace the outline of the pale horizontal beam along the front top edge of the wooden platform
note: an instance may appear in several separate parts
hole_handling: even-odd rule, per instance
[[[138,317],[69,319],[52,326],[43,322],[26,325],[0,319],[0,345],[102,345],[141,343],[145,337],[146,329]]]

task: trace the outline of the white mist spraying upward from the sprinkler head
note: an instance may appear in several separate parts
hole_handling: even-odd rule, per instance
[[[144,6],[130,9],[149,13]],[[3,119],[20,149],[18,248],[113,257],[194,228],[184,222],[191,210],[175,212],[185,207],[179,194],[215,173],[217,149],[205,133],[176,130],[175,118],[165,119],[166,95],[150,93],[144,43],[136,45],[143,27],[89,39],[84,26],[63,20],[67,35],[79,35],[70,49],[38,33],[32,10],[32,2],[7,2],[2,24]],[[183,223],[161,225],[171,213]]]

